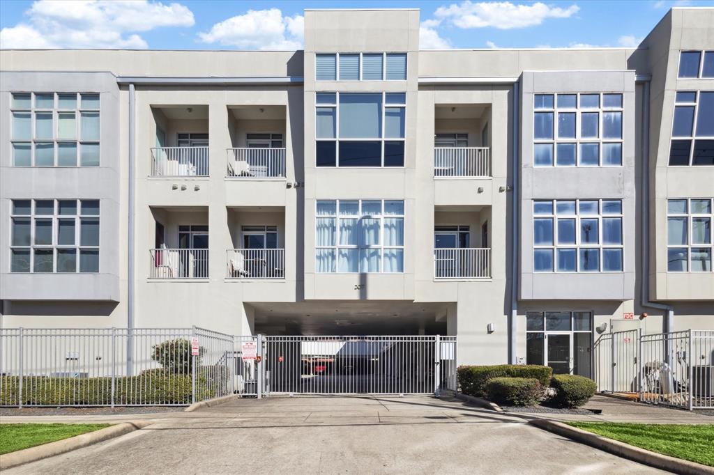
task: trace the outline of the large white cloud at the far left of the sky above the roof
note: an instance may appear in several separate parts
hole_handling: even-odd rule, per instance
[[[186,6],[147,0],[38,0],[25,14],[0,31],[0,48],[147,48],[136,32],[195,22]]]

